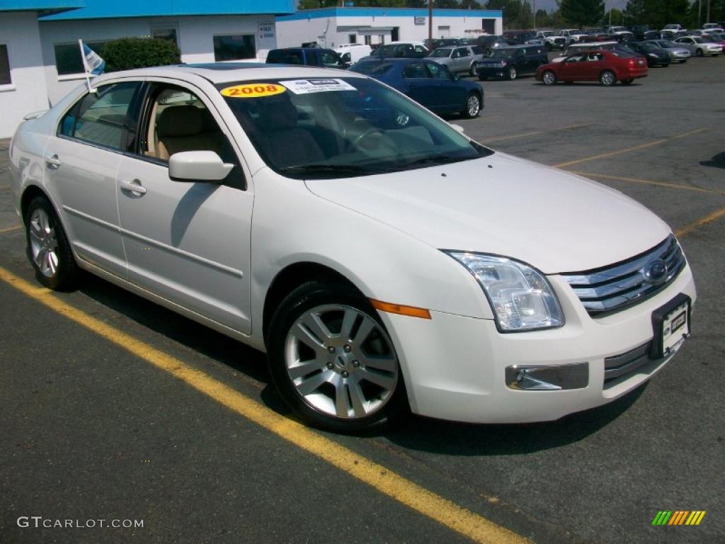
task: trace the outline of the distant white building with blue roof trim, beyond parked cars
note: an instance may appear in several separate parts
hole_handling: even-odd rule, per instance
[[[503,32],[497,9],[434,9],[433,37],[461,38]],[[277,46],[315,41],[322,47],[387,44],[428,38],[428,9],[329,7],[277,17]]]

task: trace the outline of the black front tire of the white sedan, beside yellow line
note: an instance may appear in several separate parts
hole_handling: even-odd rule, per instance
[[[292,349],[289,346],[294,345],[294,342],[297,342],[297,339],[294,338],[297,320],[302,318],[302,316],[305,316],[307,313],[317,312],[319,308],[322,308],[324,311],[328,311],[328,313],[320,315],[328,316],[329,313],[334,314],[335,311],[341,314],[343,310],[335,310],[335,307],[337,306],[355,310],[358,313],[356,319],[360,318],[360,320],[369,320],[372,318],[377,325],[377,327],[373,329],[373,333],[366,336],[366,339],[363,339],[363,342],[359,346],[355,346],[353,342],[350,342],[350,344],[354,346],[354,349],[352,350],[353,354],[356,353],[355,350],[365,350],[364,346],[368,343],[367,339],[369,339],[372,335],[377,334],[378,336],[373,340],[380,343],[376,344],[376,346],[385,346],[386,350],[389,350],[389,357],[392,357],[394,362],[394,372],[397,374],[397,381],[395,382],[394,387],[391,387],[392,391],[386,390],[386,392],[378,393],[379,395],[385,395],[384,397],[381,396],[379,398],[374,397],[375,392],[373,392],[372,400],[378,401],[380,405],[375,408],[374,411],[367,413],[365,416],[358,417],[350,415],[349,412],[347,417],[336,416],[331,413],[326,413],[326,411],[324,411],[321,407],[312,405],[312,401],[306,399],[303,393],[297,390],[299,384],[296,385],[294,383],[294,379],[290,376],[288,371],[286,354],[288,353],[288,350]],[[326,310],[328,308],[332,309]],[[360,317],[363,315],[365,318]],[[339,326],[341,329],[341,316],[337,319],[337,321],[325,321],[325,323],[326,326],[329,327],[330,331],[333,331],[336,326]],[[368,323],[372,322],[368,321]],[[358,327],[359,328],[355,331],[355,334],[360,331],[362,325]],[[292,344],[290,344],[290,342]],[[265,344],[267,346],[267,357],[272,382],[275,384],[278,392],[287,405],[289,405],[293,411],[295,411],[311,426],[332,432],[357,433],[374,427],[384,426],[385,424],[389,424],[393,421],[399,421],[410,413],[410,407],[407,403],[407,395],[405,393],[405,383],[403,382],[399,363],[397,363],[397,355],[395,355],[392,341],[389,339],[385,326],[381,321],[380,316],[378,316],[377,311],[372,307],[372,305],[370,305],[370,302],[360,294],[360,292],[357,292],[357,290],[352,287],[331,281],[324,282],[317,280],[307,281],[305,284],[300,285],[284,298],[274,313],[272,320],[270,321]],[[321,341],[319,345],[320,350],[322,350],[323,353],[330,349],[330,347],[326,346],[326,343],[323,341]],[[299,358],[301,358],[303,348],[297,347],[294,349],[300,350],[298,355]],[[341,348],[338,346],[335,349],[339,351]],[[314,360],[320,359],[321,355],[319,353],[316,354],[311,348],[308,348],[308,350],[312,353]],[[365,356],[367,357],[368,355]],[[331,360],[335,360],[336,363],[338,361],[340,361],[340,363],[343,362],[343,359],[337,353],[330,355],[330,358]],[[354,360],[352,363],[357,363],[357,361]],[[364,367],[365,365],[359,365],[359,371],[365,373],[366,369]],[[347,392],[344,399],[348,403],[347,405],[350,405],[349,403],[352,403],[352,397],[350,396],[351,390],[349,389],[350,386],[347,385],[347,380],[352,380],[351,374],[354,372],[355,371],[352,369],[349,369],[349,374],[345,375],[345,372],[342,371],[341,368],[337,368],[337,366],[333,363],[328,362],[326,368],[318,366],[318,368],[312,369],[311,374],[305,374],[305,376],[298,377],[297,379],[306,381],[310,379],[310,377],[314,378],[318,374],[321,375],[328,373],[332,376],[334,373],[335,375],[332,377],[338,382],[341,382],[344,376],[344,382],[342,383],[346,384],[343,387],[344,391]],[[320,385],[316,386],[315,389],[312,390],[314,393],[312,396],[317,397],[318,395],[327,395],[329,398],[323,398],[322,396],[318,396],[318,398],[321,398],[327,404],[334,404],[335,401],[330,396],[331,392],[329,391],[328,386],[333,390],[333,396],[337,398],[336,395],[339,394],[338,390],[336,390],[335,386],[328,381],[324,381]],[[354,405],[354,403],[352,404]],[[334,408],[336,409],[336,406]],[[354,410],[354,408],[352,409]]]

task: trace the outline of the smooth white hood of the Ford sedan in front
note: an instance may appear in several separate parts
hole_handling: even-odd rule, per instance
[[[318,197],[438,249],[506,255],[544,273],[610,265],[670,228],[619,191],[510,155],[379,176],[307,180]]]

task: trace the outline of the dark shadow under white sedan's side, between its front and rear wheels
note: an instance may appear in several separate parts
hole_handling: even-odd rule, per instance
[[[269,382],[265,355],[260,351],[96,276],[85,276],[80,291],[99,304],[258,382]]]

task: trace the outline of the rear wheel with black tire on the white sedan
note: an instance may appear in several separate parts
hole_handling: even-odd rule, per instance
[[[42,217],[41,214],[44,214],[47,222],[43,228],[43,231],[46,232],[43,242],[37,236],[40,231],[38,219]],[[75,263],[65,230],[50,201],[41,196],[33,198],[28,209],[25,210],[24,222],[26,251],[28,259],[36,271],[38,281],[45,287],[56,291],[68,291],[75,287],[80,269]],[[47,257],[47,260],[40,257],[41,252]],[[48,263],[48,265],[43,265],[41,268],[41,265],[36,262],[36,255],[41,263]]]

